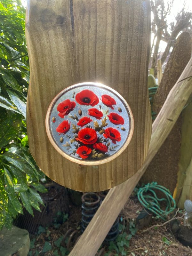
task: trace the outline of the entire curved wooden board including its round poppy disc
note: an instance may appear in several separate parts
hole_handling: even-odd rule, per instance
[[[151,136],[150,24],[149,0],[28,0],[28,140],[50,179],[79,191],[101,191],[140,169]],[[106,103],[108,96],[115,103]],[[88,136],[86,142],[79,132]]]

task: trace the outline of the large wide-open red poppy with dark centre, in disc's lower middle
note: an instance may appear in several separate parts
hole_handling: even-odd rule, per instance
[[[94,144],[97,141],[97,133],[92,128],[83,128],[81,129],[78,134],[78,138],[76,140],[79,140],[83,142],[84,144]]]

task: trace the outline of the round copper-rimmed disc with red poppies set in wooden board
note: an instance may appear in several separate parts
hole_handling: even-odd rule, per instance
[[[46,132],[65,158],[85,165],[104,164],[119,156],[133,134],[128,103],[115,90],[99,83],[74,84],[51,102]]]

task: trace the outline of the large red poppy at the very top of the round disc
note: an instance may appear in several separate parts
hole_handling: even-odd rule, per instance
[[[80,105],[86,106],[95,106],[99,103],[99,98],[95,95],[94,92],[90,90],[83,90],[78,92],[75,96],[76,102]]]

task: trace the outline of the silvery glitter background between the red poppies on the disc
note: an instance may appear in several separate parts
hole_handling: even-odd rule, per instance
[[[75,100],[75,96],[78,92],[81,92],[85,89],[88,89],[88,90],[91,90],[92,92],[94,92],[97,97],[99,98],[99,103],[95,106],[84,106],[84,105],[79,105],[76,100]],[[74,98],[73,97],[73,93],[75,92],[75,96]],[[113,97],[116,101],[116,105],[113,105],[114,109],[111,109],[111,108],[108,108],[107,106],[105,106],[102,101],[101,101],[101,96],[103,94],[107,94],[111,97]],[[71,101],[75,101],[76,102],[76,107],[74,108],[73,111],[71,111],[68,116],[65,116],[64,118],[61,118],[60,116],[58,116],[59,112],[57,111],[57,106],[60,102],[66,100],[66,99],[70,99]],[[101,109],[99,108],[99,105],[101,105]],[[120,107],[122,109],[122,112],[120,113],[118,111],[118,107]],[[107,118],[107,123],[108,125],[106,127],[104,127],[104,129],[108,128],[108,127],[113,127],[113,128],[116,128],[119,126],[119,128],[116,128],[120,134],[121,134],[121,141],[117,142],[116,141],[116,144],[113,144],[112,141],[110,140],[111,144],[110,144],[110,147],[111,146],[115,146],[115,145],[119,145],[115,151],[108,151],[108,154],[110,156],[116,154],[116,152],[124,145],[124,143],[126,142],[128,136],[129,136],[129,131],[130,131],[130,118],[129,118],[129,112],[128,112],[128,109],[126,107],[126,105],[124,105],[123,101],[116,95],[114,94],[113,92],[107,90],[106,88],[102,88],[102,87],[98,87],[98,86],[95,86],[95,85],[82,85],[82,86],[78,86],[78,87],[75,87],[75,88],[72,88],[71,90],[65,92],[64,94],[62,94],[54,103],[54,105],[52,106],[52,110],[51,110],[51,113],[50,113],[50,119],[49,119],[49,125],[50,125],[50,132],[52,134],[52,138],[53,140],[55,141],[55,143],[57,144],[57,146],[63,151],[65,152],[66,154],[70,155],[70,153],[75,149],[74,146],[72,146],[71,149],[67,150],[66,147],[64,147],[63,145],[66,144],[66,142],[68,142],[69,144],[70,143],[70,139],[67,139],[66,138],[66,135],[69,135],[71,136],[71,138],[74,138],[74,134],[72,133],[72,124],[76,124],[78,123],[77,120],[73,120],[72,118],[69,118],[69,116],[74,116],[76,114],[76,116],[80,119],[82,118],[83,116],[88,116],[90,117],[93,121],[97,121],[99,124],[101,124],[101,120],[97,120],[96,118],[92,117],[92,116],[89,116],[87,113],[88,109],[89,108],[97,108],[98,110],[102,111],[103,113],[103,117],[106,117]],[[81,109],[83,114],[82,116],[79,116],[78,114],[78,110]],[[107,114],[106,111],[109,110],[109,112]],[[124,124],[123,125],[115,125],[115,124],[112,124],[109,119],[108,119],[108,116],[110,113],[117,113],[118,115],[122,116],[124,118]],[[56,121],[55,123],[52,122],[52,117],[55,117],[56,118]],[[94,119],[93,119],[94,118]],[[63,122],[64,120],[68,120],[69,123],[71,123],[71,126],[70,126],[70,130],[66,133],[66,134],[60,134],[59,135],[59,132],[56,131],[56,128],[58,127],[58,125]],[[93,126],[93,122],[89,123],[91,126]],[[89,125],[88,124],[88,125]],[[85,125],[86,126],[86,125]],[[85,126],[83,126],[81,129],[85,128]],[[77,127],[79,127],[77,125]],[[126,129],[126,131],[122,131],[121,130],[121,127],[124,127]],[[97,135],[101,137],[101,134],[99,134],[97,132]],[[60,138],[63,137],[63,142],[61,143],[60,142]],[[75,142],[76,143],[76,142]],[[77,143],[76,143],[77,144]],[[73,143],[72,143],[73,145]],[[71,156],[71,155],[70,155]],[[71,156],[72,158],[76,158],[78,160],[81,160],[81,158],[78,157],[78,155],[76,154],[75,156],[72,155]],[[90,159],[82,159],[82,160],[88,160],[88,161],[91,161]],[[96,161],[96,159],[93,159],[94,161]],[[100,159],[98,159],[99,161]]]

